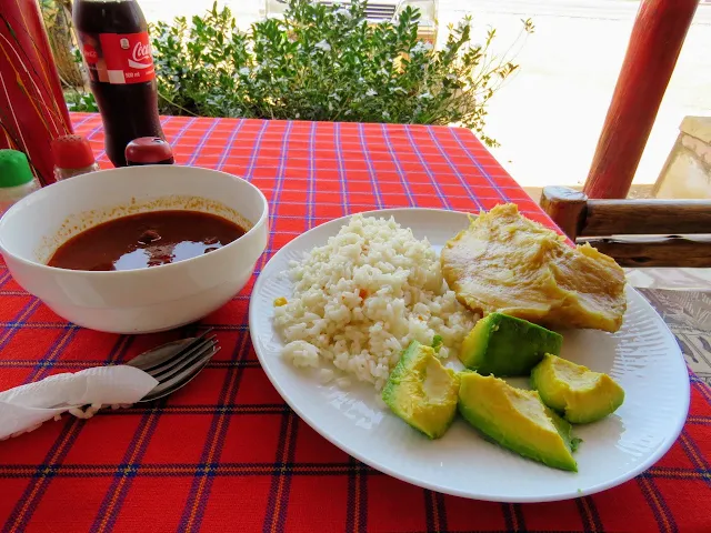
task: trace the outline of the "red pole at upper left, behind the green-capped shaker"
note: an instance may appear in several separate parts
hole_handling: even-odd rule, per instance
[[[24,152],[54,181],[50,142],[72,132],[37,0],[0,0],[0,148]]]

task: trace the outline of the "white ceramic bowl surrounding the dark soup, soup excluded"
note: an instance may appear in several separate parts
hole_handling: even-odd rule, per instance
[[[123,214],[192,209],[251,229],[230,244],[150,269],[47,266],[80,231]],[[199,320],[232,299],[267,248],[269,205],[251,183],[214,170],[129,167],[78,175],[22,199],[0,220],[0,253],[14,280],[60,316],[112,333],[149,333]]]

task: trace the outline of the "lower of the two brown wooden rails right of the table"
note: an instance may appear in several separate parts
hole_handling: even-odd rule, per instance
[[[665,239],[578,239],[610,255],[620,266],[711,266],[711,240],[669,237]]]

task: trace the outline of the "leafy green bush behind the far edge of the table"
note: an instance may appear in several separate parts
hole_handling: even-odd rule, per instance
[[[485,135],[487,101],[518,64],[491,53],[495,30],[472,43],[471,19],[441,50],[418,40],[419,10],[369,24],[365,2],[291,0],[280,19],[236,29],[217,2],[188,23],[151,28],[166,114],[460,124]],[[522,21],[519,37],[533,31]]]

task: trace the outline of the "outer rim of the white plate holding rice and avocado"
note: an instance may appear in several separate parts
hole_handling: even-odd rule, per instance
[[[509,499],[502,499],[502,497],[495,497],[495,496],[487,496],[487,495],[481,495],[481,494],[473,494],[472,492],[465,492],[465,491],[460,491],[457,489],[450,489],[447,486],[442,486],[442,485],[438,485],[437,483],[430,483],[430,482],[425,482],[425,481],[420,481],[413,476],[407,475],[407,474],[401,474],[398,473],[397,471],[390,469],[388,465],[385,464],[381,464],[378,461],[371,461],[367,457],[364,457],[361,453],[359,452],[354,452],[351,450],[351,447],[343,442],[342,439],[339,439],[337,435],[331,435],[329,434],[327,431],[322,430],[321,428],[319,428],[319,424],[316,423],[313,420],[311,420],[311,418],[309,418],[308,415],[306,415],[303,413],[303,411],[296,405],[290,398],[288,398],[288,395],[284,393],[284,391],[282,390],[282,388],[279,385],[278,381],[276,380],[276,378],[272,375],[269,364],[264,364],[266,362],[266,358],[264,354],[260,353],[261,349],[258,348],[259,343],[254,342],[254,336],[256,333],[253,331],[253,324],[257,322],[257,316],[256,316],[256,304],[254,304],[254,299],[252,298],[253,294],[256,294],[258,292],[258,289],[261,288],[261,285],[263,283],[266,283],[266,279],[262,279],[262,273],[263,271],[268,268],[269,263],[271,263],[272,261],[274,261],[274,259],[277,259],[280,254],[286,253],[286,250],[290,247],[292,247],[294,243],[297,243],[299,240],[306,238],[306,235],[308,235],[309,233],[311,233],[312,231],[322,228],[323,225],[327,224],[333,224],[336,225],[338,222],[341,223],[341,225],[343,223],[346,223],[346,221],[348,221],[351,217],[353,217],[354,214],[363,214],[363,215],[373,215],[373,214],[379,214],[382,217],[390,217],[393,215],[395,213],[402,213],[402,212],[412,212],[412,211],[429,211],[432,214],[444,214],[444,215],[469,215],[471,213],[465,212],[465,211],[458,211],[458,210],[447,210],[447,209],[432,209],[432,208],[393,208],[393,209],[380,209],[380,210],[371,210],[371,211],[362,211],[362,212],[358,212],[358,213],[351,213],[351,214],[347,214],[343,217],[340,217],[338,219],[331,219],[328,220],[326,222],[322,222],[318,225],[314,225],[313,228],[304,231],[303,233],[301,233],[300,235],[298,235],[297,238],[292,239],[291,241],[289,241],[287,244],[284,244],[282,248],[280,248],[270,259],[269,261],[267,261],[267,263],[264,263],[264,266],[261,269],[257,281],[254,282],[254,285],[252,288],[252,292],[250,293],[250,302],[249,302],[249,313],[248,313],[248,319],[249,319],[249,333],[250,333],[250,341],[252,343],[252,346],[254,348],[254,353],[257,354],[257,359],[259,360],[260,366],[261,369],[264,371],[264,373],[267,374],[267,378],[269,379],[269,382],[272,384],[272,386],[277,390],[277,392],[279,393],[279,395],[281,396],[281,399],[289,405],[289,408],[303,421],[306,422],[313,431],[316,431],[319,435],[321,435],[322,438],[324,438],[327,441],[329,441],[331,444],[333,444],[334,446],[337,446],[339,450],[341,450],[342,452],[347,453],[348,455],[357,459],[358,461],[360,461],[363,464],[367,464],[368,466],[382,472],[387,475],[390,475],[392,477],[395,477],[400,481],[403,481],[405,483],[410,483],[414,486],[419,486],[422,489],[428,489],[431,491],[437,491],[440,492],[442,494],[450,494],[453,496],[459,496],[459,497],[465,497],[469,500],[479,500],[479,501],[485,501],[485,502],[497,502],[497,503],[544,503],[544,502],[560,502],[560,501],[565,501],[565,500],[573,500],[573,499],[578,499],[578,497],[582,497],[582,496],[588,496],[588,495],[592,495],[592,494],[597,494],[600,493],[602,491],[605,491],[608,489],[613,489],[618,485],[621,485],[622,483],[625,483],[634,477],[637,477],[638,475],[640,475],[641,473],[645,472],[647,470],[649,470],[652,465],[654,465],[654,463],[657,463],[662,456],[664,456],[667,454],[667,452],[671,449],[671,446],[674,444],[674,442],[677,442],[677,439],[679,438],[679,435],[681,434],[681,432],[683,431],[683,428],[687,423],[687,419],[689,415],[689,406],[690,406],[690,401],[691,401],[691,383],[689,380],[689,368],[687,365],[687,362],[684,360],[683,353],[681,352],[681,349],[679,348],[679,343],[677,342],[677,338],[673,335],[673,333],[671,332],[671,330],[669,329],[669,326],[667,325],[667,323],[663,321],[663,319],[661,318],[661,315],[657,312],[657,310],[652,306],[652,304],[644,299],[644,296],[642,296],[640,294],[640,292],[634,289],[633,286],[631,286],[629,283],[625,283],[625,289],[631,291],[634,296],[640,301],[640,303],[642,304],[642,306],[645,306],[649,311],[652,312],[653,314],[653,320],[657,322],[657,324],[661,324],[661,330],[663,332],[664,335],[669,335],[671,338],[671,340],[673,340],[673,345],[677,346],[675,353],[674,354],[670,354],[669,356],[674,356],[674,359],[677,360],[677,363],[680,364],[685,373],[687,379],[683,380],[684,383],[684,390],[680,391],[683,392],[683,409],[680,412],[683,412],[683,416],[679,416],[679,419],[675,421],[674,425],[673,425],[673,431],[671,433],[668,434],[668,436],[661,442],[661,444],[658,446],[658,449],[654,451],[654,453],[652,453],[645,461],[640,462],[639,464],[637,464],[634,467],[630,469],[628,472],[625,472],[624,474],[618,475],[617,477],[613,477],[607,482],[602,482],[602,483],[598,483],[597,485],[592,485],[590,487],[588,487],[587,490],[578,490],[574,493],[564,493],[564,494],[550,494],[547,496],[541,496],[541,497],[537,497],[537,496],[531,496],[531,497],[525,497],[525,496],[513,496],[513,497],[509,497]]]

